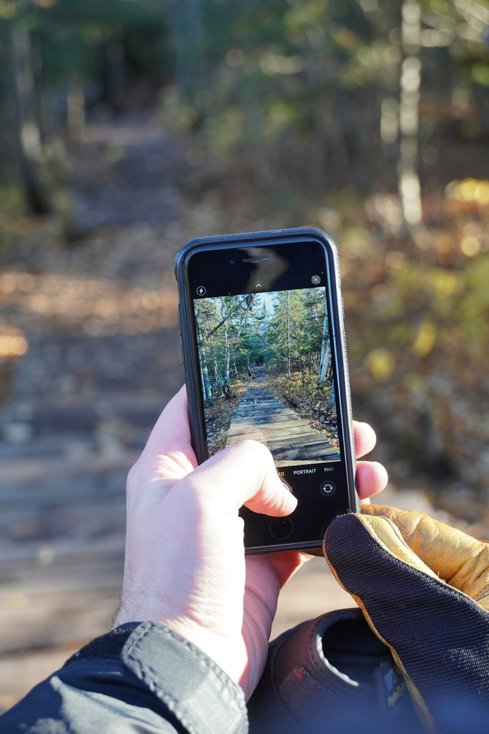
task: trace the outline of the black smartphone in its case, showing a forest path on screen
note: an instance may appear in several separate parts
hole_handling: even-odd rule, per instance
[[[358,511],[337,249],[314,228],[194,239],[175,258],[191,437],[199,463],[254,439],[298,500],[243,507],[247,553],[320,553]]]

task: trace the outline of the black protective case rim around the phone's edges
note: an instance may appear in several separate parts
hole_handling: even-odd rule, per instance
[[[182,359],[185,369],[185,386],[188,399],[188,415],[190,419],[191,440],[196,459],[201,464],[207,459],[205,449],[205,424],[199,405],[199,355],[195,346],[195,335],[191,328],[189,313],[188,281],[185,270],[187,258],[196,250],[212,250],[219,247],[238,247],[241,244],[280,244],[282,242],[319,241],[326,249],[328,258],[328,291],[333,321],[334,352],[337,364],[338,398],[341,413],[342,443],[345,450],[345,466],[348,481],[348,503],[352,512],[359,512],[359,495],[356,485],[356,459],[353,440],[353,421],[351,413],[350,382],[348,375],[348,357],[346,352],[345,328],[341,297],[341,278],[337,247],[325,232],[315,228],[295,228],[284,230],[268,230],[264,232],[235,233],[192,239],[180,248],[174,259],[174,272],[177,278],[179,294],[178,322],[182,338]],[[246,549],[247,553],[266,553],[271,551],[300,550],[314,555],[322,555],[322,543],[283,543],[279,546],[266,546]]]

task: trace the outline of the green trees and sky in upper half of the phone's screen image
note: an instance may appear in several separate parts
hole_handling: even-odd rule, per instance
[[[233,379],[273,377],[327,384],[331,345],[323,288],[197,300],[196,333],[205,405],[229,397]]]

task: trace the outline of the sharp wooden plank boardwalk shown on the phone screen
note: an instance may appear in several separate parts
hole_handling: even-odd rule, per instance
[[[307,421],[260,385],[246,390],[229,426],[226,446],[246,439],[265,443],[276,463],[339,460],[337,449],[324,434],[315,433]]]

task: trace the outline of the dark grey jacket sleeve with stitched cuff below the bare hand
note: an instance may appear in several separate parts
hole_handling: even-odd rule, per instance
[[[2,734],[246,734],[243,691],[202,650],[141,622],[93,641],[0,716]]]

